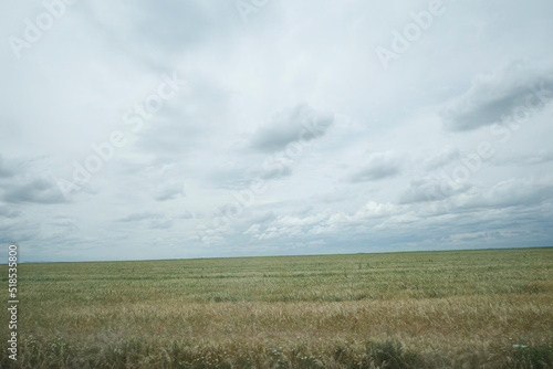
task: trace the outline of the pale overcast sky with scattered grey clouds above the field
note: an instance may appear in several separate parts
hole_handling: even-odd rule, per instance
[[[21,262],[553,245],[550,0],[0,10]]]

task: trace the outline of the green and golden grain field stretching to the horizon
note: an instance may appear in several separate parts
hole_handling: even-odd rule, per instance
[[[18,276],[18,361],[2,349],[1,368],[553,368],[553,249],[20,264]],[[0,321],[6,345],[6,308]]]

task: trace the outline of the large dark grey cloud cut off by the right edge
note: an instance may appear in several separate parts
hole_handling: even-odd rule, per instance
[[[497,71],[479,75],[465,95],[442,113],[447,130],[472,130],[509,116],[519,118],[552,98],[553,68],[524,61],[510,61]]]

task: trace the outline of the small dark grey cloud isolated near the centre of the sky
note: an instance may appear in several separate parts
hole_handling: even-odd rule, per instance
[[[322,137],[334,123],[334,117],[322,114],[305,104],[280,112],[261,125],[252,135],[251,147],[259,151],[279,151],[294,141],[310,141]]]

